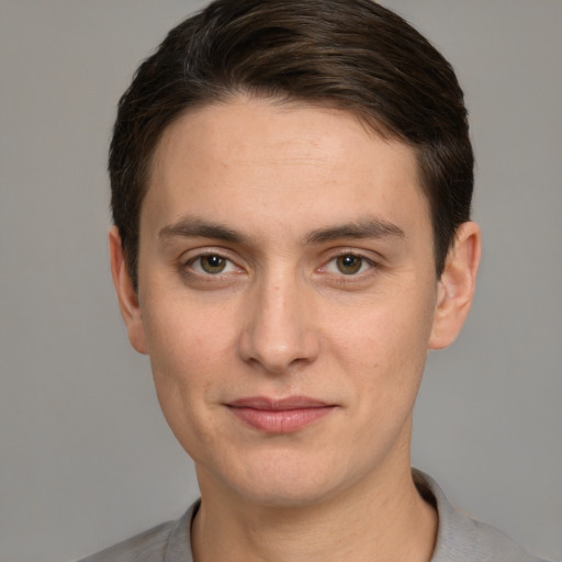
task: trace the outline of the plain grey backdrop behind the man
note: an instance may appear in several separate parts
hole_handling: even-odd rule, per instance
[[[0,560],[65,562],[196,495],[106,250],[108,138],[137,63],[202,2],[0,3]],[[484,258],[460,339],[429,357],[414,463],[562,558],[562,3],[387,0],[456,66]]]

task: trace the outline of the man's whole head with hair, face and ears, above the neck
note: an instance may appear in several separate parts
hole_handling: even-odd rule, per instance
[[[404,482],[479,258],[443,58],[369,0],[220,0],[139,68],[110,170],[121,310],[203,497]]]

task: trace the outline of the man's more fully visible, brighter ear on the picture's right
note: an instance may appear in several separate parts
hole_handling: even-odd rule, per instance
[[[472,222],[461,224],[438,282],[429,349],[442,349],[459,335],[474,296],[480,254],[479,226]]]

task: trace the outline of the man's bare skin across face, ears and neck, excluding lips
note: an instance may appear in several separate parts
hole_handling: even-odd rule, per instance
[[[205,106],[157,147],[138,294],[116,229],[110,248],[131,342],[195,462],[198,562],[430,559],[412,412],[427,350],[470,308],[480,232],[459,228],[436,279],[411,147],[344,111]],[[271,432],[232,407],[295,395],[330,408]]]

